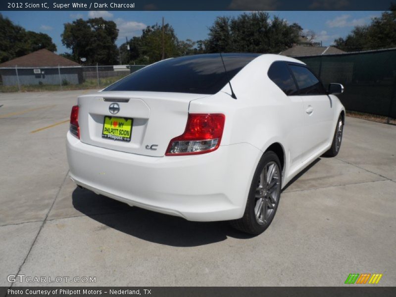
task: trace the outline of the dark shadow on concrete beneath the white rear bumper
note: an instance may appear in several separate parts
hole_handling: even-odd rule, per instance
[[[228,222],[190,222],[180,217],[131,207],[86,189],[76,188],[72,200],[75,209],[108,228],[162,245],[196,247],[221,242],[227,237],[253,237],[234,230]]]

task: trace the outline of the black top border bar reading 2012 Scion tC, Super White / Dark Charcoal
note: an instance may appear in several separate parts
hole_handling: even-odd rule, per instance
[[[0,10],[388,10],[396,0],[1,0]],[[58,5],[55,5],[57,3]],[[73,6],[74,3],[74,6]],[[84,4],[84,5],[76,5]],[[96,3],[96,4],[95,4]],[[63,5],[59,5],[63,4]]]

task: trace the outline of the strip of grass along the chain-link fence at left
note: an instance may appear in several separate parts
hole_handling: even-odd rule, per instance
[[[86,90],[86,89],[100,89],[111,85],[117,80],[123,78],[124,75],[115,77],[106,77],[99,79],[99,85],[97,79],[86,79],[82,84],[72,85],[68,84],[62,86],[63,91],[68,90]],[[60,91],[59,85],[24,85],[21,86],[21,92],[44,92],[44,91]],[[0,86],[0,92],[18,92],[18,86]]]

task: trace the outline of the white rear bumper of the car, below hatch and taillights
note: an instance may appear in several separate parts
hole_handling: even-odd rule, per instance
[[[243,216],[261,151],[243,143],[192,156],[151,157],[82,143],[67,133],[70,177],[97,194],[191,221]]]

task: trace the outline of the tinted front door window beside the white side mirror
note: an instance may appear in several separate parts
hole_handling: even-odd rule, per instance
[[[296,78],[300,95],[325,95],[325,89],[316,76],[306,67],[289,65]]]

